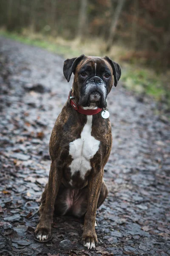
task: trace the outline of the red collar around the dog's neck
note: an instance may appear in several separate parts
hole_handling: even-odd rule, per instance
[[[102,108],[97,108],[97,109],[83,109],[81,108],[75,101],[74,101],[74,96],[72,96],[72,89],[69,92],[68,95],[68,102],[69,104],[75,109],[77,110],[77,112],[84,114],[84,115],[95,115],[97,113],[99,113]]]

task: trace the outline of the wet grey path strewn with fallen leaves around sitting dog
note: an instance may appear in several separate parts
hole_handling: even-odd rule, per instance
[[[54,218],[51,241],[33,239],[49,138],[71,87],[62,66],[58,55],[0,37],[0,255],[170,255],[170,123],[121,83],[108,96],[113,147],[99,246],[82,247],[83,222],[72,217]]]

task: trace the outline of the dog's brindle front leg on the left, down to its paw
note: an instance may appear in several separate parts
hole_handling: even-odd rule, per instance
[[[40,213],[40,223],[35,230],[37,239],[47,240],[51,235],[51,224],[53,221],[54,203],[57,197],[58,189],[62,179],[62,172],[57,167],[57,161],[51,163],[48,185],[46,189],[45,204],[42,213]]]

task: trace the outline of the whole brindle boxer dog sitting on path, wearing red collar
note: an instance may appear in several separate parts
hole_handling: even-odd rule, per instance
[[[84,218],[82,243],[88,249],[97,245],[96,208],[108,195],[103,180],[104,166],[111,152],[111,123],[107,96],[121,76],[119,64],[105,56],[81,55],[67,59],[64,76],[72,91],[54,125],[50,139],[51,168],[42,193],[37,239],[51,235],[54,211]]]

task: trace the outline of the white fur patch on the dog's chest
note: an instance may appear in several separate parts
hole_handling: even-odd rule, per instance
[[[87,123],[82,130],[81,138],[69,143],[69,154],[73,158],[69,166],[71,176],[79,171],[82,179],[84,179],[86,172],[91,170],[90,159],[94,157],[100,144],[99,140],[91,136],[92,118],[92,115],[87,116]],[[72,181],[70,184],[72,185]]]

